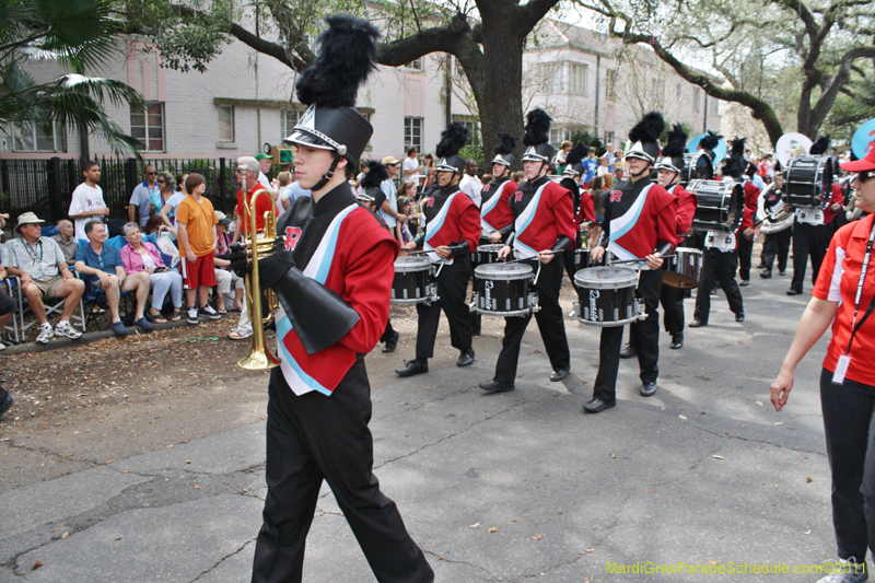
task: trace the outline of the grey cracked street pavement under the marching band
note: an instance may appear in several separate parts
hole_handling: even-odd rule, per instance
[[[494,326],[475,340],[468,369],[452,365],[453,354],[428,375],[397,378],[402,347],[393,359],[369,357],[380,368],[371,375],[375,474],[436,581],[819,579],[793,571],[836,551],[817,388],[829,334],[775,412],[768,387],[808,298],[785,295],[789,279],[755,272],[743,288],[744,324],[720,292],[710,326],[687,329],[682,350],[661,336],[654,397],[639,396],[637,362],[625,360],[617,407],[594,416],[582,407],[598,328],[572,318],[572,374],[548,381],[533,322],[511,393],[477,387],[492,376]],[[693,301],[685,304],[689,320]],[[0,492],[0,583],[248,581],[264,448],[259,422]],[[767,564],[790,573],[754,572]],[[661,565],[684,571],[635,572]],[[327,487],[304,581],[374,581]]]

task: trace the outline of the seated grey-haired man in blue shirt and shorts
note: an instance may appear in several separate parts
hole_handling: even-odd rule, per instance
[[[136,291],[137,312],[133,323],[145,331],[154,326],[143,316],[145,300],[149,298],[149,275],[145,271],[127,275],[118,249],[106,243],[106,226],[98,221],[85,223],[85,236],[89,244],[75,252],[75,269],[88,276],[94,285],[106,294],[106,303],[113,316],[113,331],[116,336],[127,336],[130,330],[125,327],[118,315],[118,301],[124,291]]]

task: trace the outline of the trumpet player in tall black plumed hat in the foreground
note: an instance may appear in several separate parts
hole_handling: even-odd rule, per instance
[[[347,179],[373,132],[354,105],[359,85],[376,69],[380,33],[352,16],[326,21],[316,63],[296,83],[298,98],[310,108],[287,138],[298,147],[299,184],[313,196],[283,213],[283,240],[259,261],[261,287],[282,306],[276,315],[281,363],[270,375],[268,491],[253,582],[301,581],[325,480],[376,580],[428,583],[434,581],[431,567],[372,473],[368,429],[363,355],[386,325],[398,243],[357,203]],[[330,60],[337,56],[345,61]]]

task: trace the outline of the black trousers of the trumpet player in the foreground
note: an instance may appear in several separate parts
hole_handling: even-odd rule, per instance
[[[430,581],[431,567],[372,471],[371,385],[364,360],[355,362],[330,397],[295,395],[280,369],[273,369],[268,393],[268,492],[253,583],[302,580],[304,546],[323,480],[377,581]]]

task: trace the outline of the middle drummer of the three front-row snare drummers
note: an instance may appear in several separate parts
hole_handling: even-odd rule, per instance
[[[526,258],[527,265],[540,276],[535,289],[540,311],[535,313],[544,348],[550,359],[550,381],[561,381],[571,370],[571,353],[559,306],[559,290],[562,287],[562,252],[574,241],[574,224],[571,193],[550,180],[547,172],[556,149],[549,143],[551,118],[544,109],[533,109],[526,116],[526,133],[523,143],[528,148],[523,155],[526,179],[511,198],[513,211],[513,250],[517,257]],[[511,246],[499,252],[506,258]],[[504,340],[495,363],[495,375],[480,383],[486,390],[513,390],[520,345],[532,314],[504,318]]]

